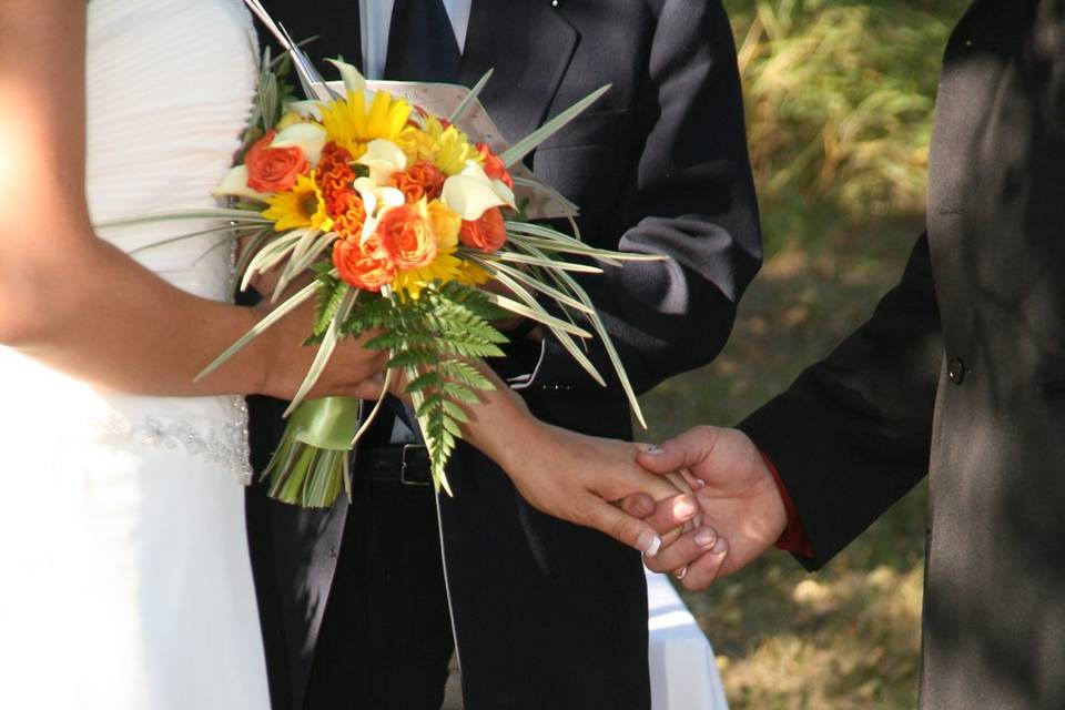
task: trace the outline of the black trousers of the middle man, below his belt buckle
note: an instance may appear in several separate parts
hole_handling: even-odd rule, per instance
[[[354,476],[305,710],[439,710],[454,650],[432,486]]]

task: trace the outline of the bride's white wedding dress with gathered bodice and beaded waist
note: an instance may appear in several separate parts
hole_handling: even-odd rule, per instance
[[[88,12],[93,221],[212,206],[254,92],[240,0],[92,0]],[[100,236],[133,252],[197,226]],[[225,300],[232,253],[216,243],[135,257]],[[3,348],[0,397],[0,708],[266,710],[240,398],[100,392]]]

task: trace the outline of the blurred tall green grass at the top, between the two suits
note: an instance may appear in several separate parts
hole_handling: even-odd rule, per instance
[[[966,4],[726,2],[770,247],[807,236],[810,202],[845,215],[921,211],[942,50]]]

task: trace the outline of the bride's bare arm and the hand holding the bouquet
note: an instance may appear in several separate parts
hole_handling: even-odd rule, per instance
[[[125,392],[291,396],[314,356],[298,345],[310,308],[194,384],[262,314],[189,295],[92,232],[85,3],[4,0],[0,28],[0,343]],[[314,394],[367,394],[382,356],[352,342],[335,357]]]

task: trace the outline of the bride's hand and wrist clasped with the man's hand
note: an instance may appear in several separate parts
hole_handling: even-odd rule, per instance
[[[648,447],[523,417],[506,428],[505,445],[486,453],[529,504],[642,551],[688,589],[740,569],[787,524],[773,475],[741,432],[698,427]]]

